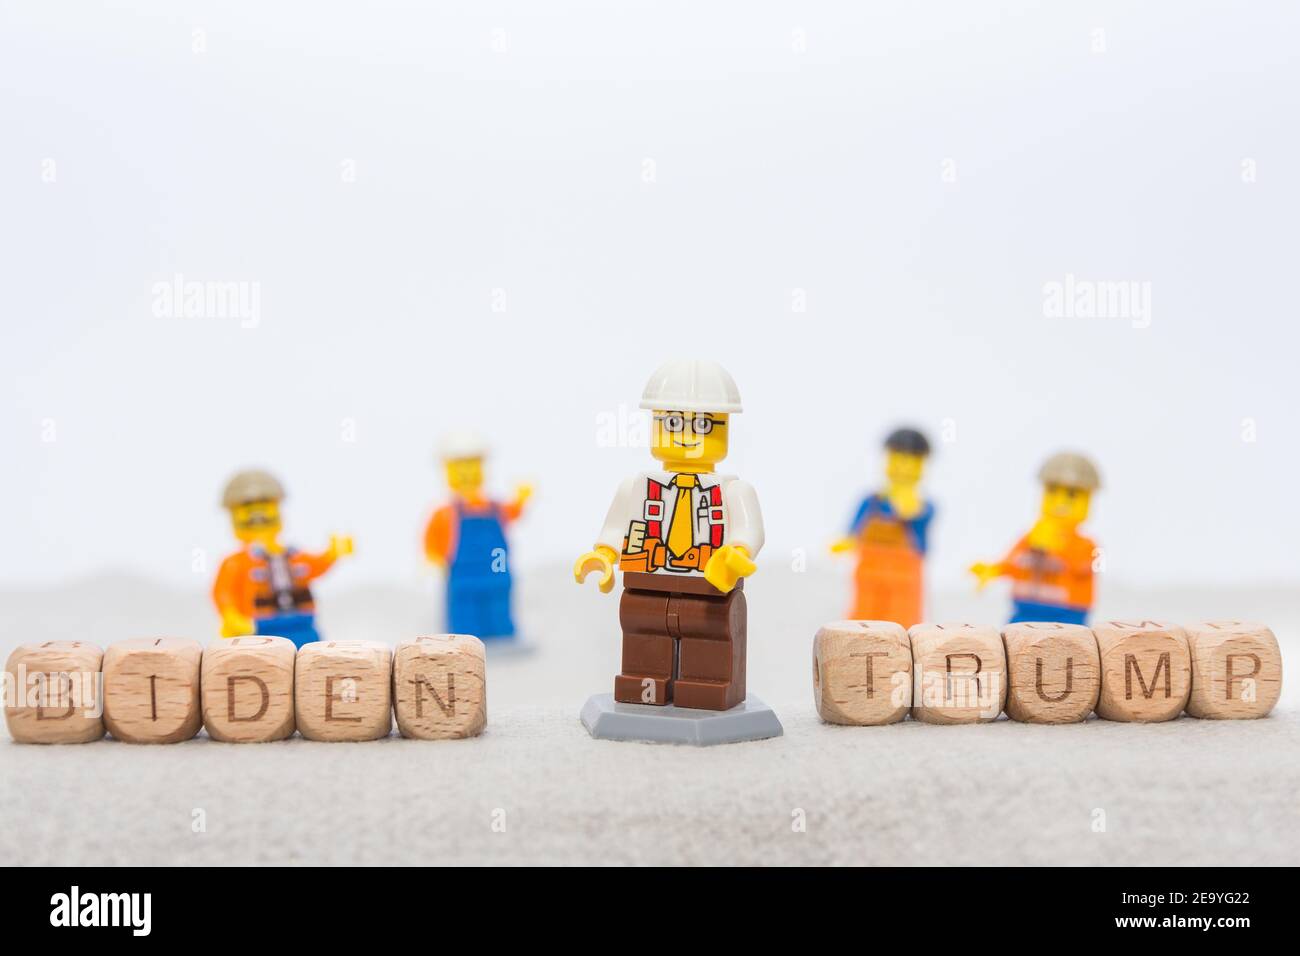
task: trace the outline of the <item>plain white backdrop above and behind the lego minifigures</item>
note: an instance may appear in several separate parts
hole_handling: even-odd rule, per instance
[[[940,585],[1058,447],[1108,575],[1295,583],[1296,7],[1045,7],[5,0],[0,576],[205,587],[265,464],[292,542],[356,535],[337,580],[417,581],[458,420],[538,485],[516,563],[572,559],[646,460],[599,416],[694,354],[766,561],[823,559],[910,421]],[[176,273],[259,325],[155,316]],[[1045,317],[1067,273],[1149,328]]]

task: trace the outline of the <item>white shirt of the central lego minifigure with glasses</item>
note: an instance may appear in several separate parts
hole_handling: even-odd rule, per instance
[[[675,477],[676,472],[671,471],[644,471],[619,485],[595,544],[621,554],[623,540],[632,529],[633,522],[656,523],[658,538],[667,541],[679,497],[679,489],[672,484]],[[696,485],[690,489],[690,505],[696,516],[694,544],[710,544],[712,529],[720,525],[722,544],[741,545],[751,558],[757,557],[763,548],[763,514],[758,510],[758,496],[753,485],[734,475],[707,472],[696,475],[694,479]],[[651,499],[649,494],[651,480],[664,485],[658,501]],[[715,486],[722,489],[720,506],[712,503]]]

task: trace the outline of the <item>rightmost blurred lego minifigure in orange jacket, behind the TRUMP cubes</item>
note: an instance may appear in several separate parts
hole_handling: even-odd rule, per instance
[[[1011,579],[1011,623],[1086,624],[1092,609],[1092,562],[1096,545],[1079,533],[1092,493],[1101,488],[1096,466],[1083,455],[1052,455],[1039,471],[1043,506],[1039,520],[997,563],[971,564],[983,588],[994,578]]]

